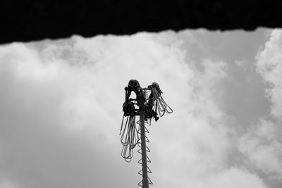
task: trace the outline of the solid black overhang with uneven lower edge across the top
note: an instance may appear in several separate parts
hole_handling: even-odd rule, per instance
[[[282,1],[4,1],[0,44],[72,35],[282,27]]]

